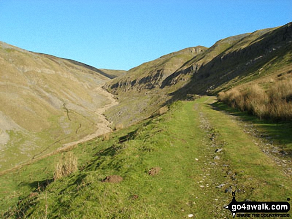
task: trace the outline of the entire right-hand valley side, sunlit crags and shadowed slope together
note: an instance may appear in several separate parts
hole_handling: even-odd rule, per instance
[[[190,53],[194,50],[195,53]],[[177,62],[178,53],[183,53],[186,59]],[[166,68],[169,66],[172,68]],[[117,95],[120,104],[105,114],[115,124],[128,125],[173,100],[194,94],[214,95],[238,84],[291,70],[292,23],[288,23],[142,64],[106,84],[105,88]]]

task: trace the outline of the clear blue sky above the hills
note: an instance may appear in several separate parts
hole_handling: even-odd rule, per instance
[[[0,0],[0,41],[97,68],[292,21],[292,0]]]

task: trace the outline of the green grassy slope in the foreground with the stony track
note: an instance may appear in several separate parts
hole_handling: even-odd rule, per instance
[[[272,150],[292,148],[290,135],[285,143],[277,141],[291,126],[236,111],[230,116],[219,108],[229,110],[213,97],[177,102],[166,114],[114,132],[108,140],[81,144],[70,152],[78,170],[55,182],[54,165],[62,154],[2,175],[0,214],[232,218],[223,206],[234,190],[238,201],[286,201],[292,193],[291,156]],[[253,119],[253,126],[239,118]],[[254,135],[255,129],[265,138]]]

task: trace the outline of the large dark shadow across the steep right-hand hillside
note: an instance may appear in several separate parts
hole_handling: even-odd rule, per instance
[[[271,60],[273,60],[273,63],[280,62],[291,51],[292,44],[287,43],[292,39],[291,33],[292,24],[290,23],[281,28],[263,33],[263,35],[255,39],[250,39],[252,41],[244,48],[232,50],[232,47],[235,47],[238,42],[235,43],[228,48],[228,50],[230,49],[229,53],[225,54],[225,51],[223,51],[217,54],[217,56],[209,62],[202,64],[197,70],[194,63],[186,70],[171,74],[163,81],[161,88],[172,86],[173,83],[180,83],[180,78],[177,78],[179,75],[191,74],[192,77],[184,86],[169,94],[171,99],[168,103],[186,98],[186,94],[208,95],[215,88],[235,78],[236,81],[245,80],[247,82],[247,75],[252,74],[250,79],[259,77],[256,74],[258,69],[270,63]],[[232,85],[225,85],[225,88],[230,86]]]

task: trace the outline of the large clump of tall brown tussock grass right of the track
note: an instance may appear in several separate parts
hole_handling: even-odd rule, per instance
[[[276,81],[264,90],[255,84],[245,90],[220,92],[218,99],[233,108],[248,111],[260,119],[292,120],[292,79]]]

